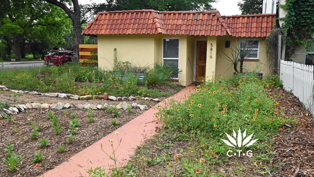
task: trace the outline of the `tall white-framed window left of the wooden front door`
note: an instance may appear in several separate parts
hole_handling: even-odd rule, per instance
[[[162,63],[168,64],[171,78],[178,79],[177,71],[179,69],[179,39],[163,39],[162,44]]]

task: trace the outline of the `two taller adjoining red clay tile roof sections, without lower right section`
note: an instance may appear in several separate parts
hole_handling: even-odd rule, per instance
[[[231,35],[218,11],[128,10],[99,12],[82,34]]]

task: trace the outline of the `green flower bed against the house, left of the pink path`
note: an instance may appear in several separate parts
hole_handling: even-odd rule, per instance
[[[123,76],[116,77],[115,75]],[[181,89],[179,87],[174,91],[159,91],[158,86],[154,89],[148,88],[156,83],[170,87],[173,85],[167,80],[169,71],[166,66],[147,70],[144,80],[140,80],[133,73],[122,72],[115,75],[109,71],[101,71],[97,67],[67,64],[53,67],[44,66],[41,69],[2,70],[0,71],[0,84],[11,89],[63,92],[80,96],[102,95],[107,92],[108,95],[114,96],[167,97]]]

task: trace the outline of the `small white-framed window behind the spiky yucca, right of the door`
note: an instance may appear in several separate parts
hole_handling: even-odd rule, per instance
[[[258,59],[259,57],[259,40],[258,39],[241,39],[240,40],[240,49],[249,49],[251,50],[247,59]]]

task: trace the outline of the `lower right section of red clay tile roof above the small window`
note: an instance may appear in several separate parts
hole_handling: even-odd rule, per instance
[[[232,36],[266,37],[273,29],[276,14],[222,16]]]

